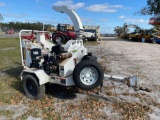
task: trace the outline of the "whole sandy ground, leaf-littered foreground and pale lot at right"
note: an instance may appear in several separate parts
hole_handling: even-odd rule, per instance
[[[99,94],[97,89],[74,93],[50,86],[42,100],[34,101],[27,98],[19,86],[16,92],[21,97],[16,96],[13,101],[16,104],[0,103],[0,120],[160,120],[159,44],[103,38],[100,44],[85,46],[98,57],[105,73],[127,77],[138,75],[140,86],[149,92],[135,91],[124,83],[109,80],[104,81]],[[1,78],[6,76],[5,71],[0,73]],[[53,88],[58,92],[52,92]]]

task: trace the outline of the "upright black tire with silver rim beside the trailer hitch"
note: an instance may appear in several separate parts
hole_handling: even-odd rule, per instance
[[[93,60],[81,61],[73,71],[75,84],[83,90],[95,89],[102,84],[103,78],[104,72],[101,66]]]

